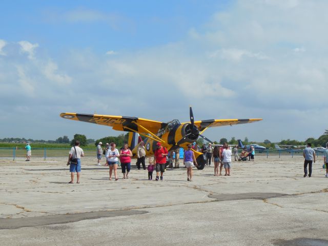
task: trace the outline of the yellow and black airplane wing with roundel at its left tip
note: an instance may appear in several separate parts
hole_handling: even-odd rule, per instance
[[[150,119],[114,115],[61,113],[60,117],[65,119],[72,119],[98,125],[109,126],[112,127],[113,130],[117,131],[139,133],[151,132],[153,134],[156,134],[159,129],[167,125],[166,123]]]

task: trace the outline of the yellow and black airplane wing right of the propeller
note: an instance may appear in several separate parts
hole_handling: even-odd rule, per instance
[[[207,119],[207,120],[195,121],[194,124],[195,126],[198,127],[199,131],[203,131],[209,127],[223,127],[223,126],[232,126],[237,124],[247,124],[260,120],[262,119]]]

